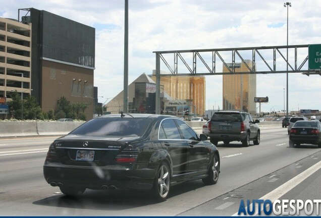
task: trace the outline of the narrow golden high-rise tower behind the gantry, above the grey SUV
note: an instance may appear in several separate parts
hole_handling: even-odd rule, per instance
[[[250,60],[244,60],[252,68]],[[232,64],[227,64],[232,69]],[[235,72],[249,72],[244,63],[235,63]],[[255,114],[256,74],[231,74],[223,65],[223,110],[243,110]]]

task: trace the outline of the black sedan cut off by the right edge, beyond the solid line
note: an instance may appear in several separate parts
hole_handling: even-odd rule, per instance
[[[313,144],[321,147],[321,123],[317,120],[297,121],[290,129],[289,146]]]

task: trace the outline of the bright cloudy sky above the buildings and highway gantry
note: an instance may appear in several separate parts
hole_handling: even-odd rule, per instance
[[[153,51],[287,44],[284,1],[129,0],[128,3],[128,84],[142,73],[152,73]],[[318,13],[321,1],[295,0],[291,5],[288,44],[321,43]],[[94,27],[94,86],[98,87],[98,96],[103,96],[98,97],[98,102],[108,102],[123,90],[125,0],[0,0],[0,6],[3,18],[17,19],[18,9],[35,8]],[[302,56],[307,54],[306,51]],[[169,72],[164,65],[161,70]],[[222,75],[206,76],[206,110],[222,109],[222,80]],[[261,103],[261,112],[286,108],[286,82],[286,74],[257,75],[256,97],[269,97],[268,103]],[[288,84],[289,111],[321,111],[320,75],[289,73]]]

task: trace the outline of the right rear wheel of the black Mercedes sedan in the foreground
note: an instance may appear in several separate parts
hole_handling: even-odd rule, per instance
[[[167,162],[163,161],[159,165],[154,184],[152,195],[158,201],[165,201],[170,193],[171,172]]]

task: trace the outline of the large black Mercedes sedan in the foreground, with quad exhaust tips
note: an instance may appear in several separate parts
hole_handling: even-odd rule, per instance
[[[62,193],[86,189],[150,191],[165,200],[174,184],[202,179],[216,184],[217,147],[174,116],[105,115],[53,141],[44,178]]]

